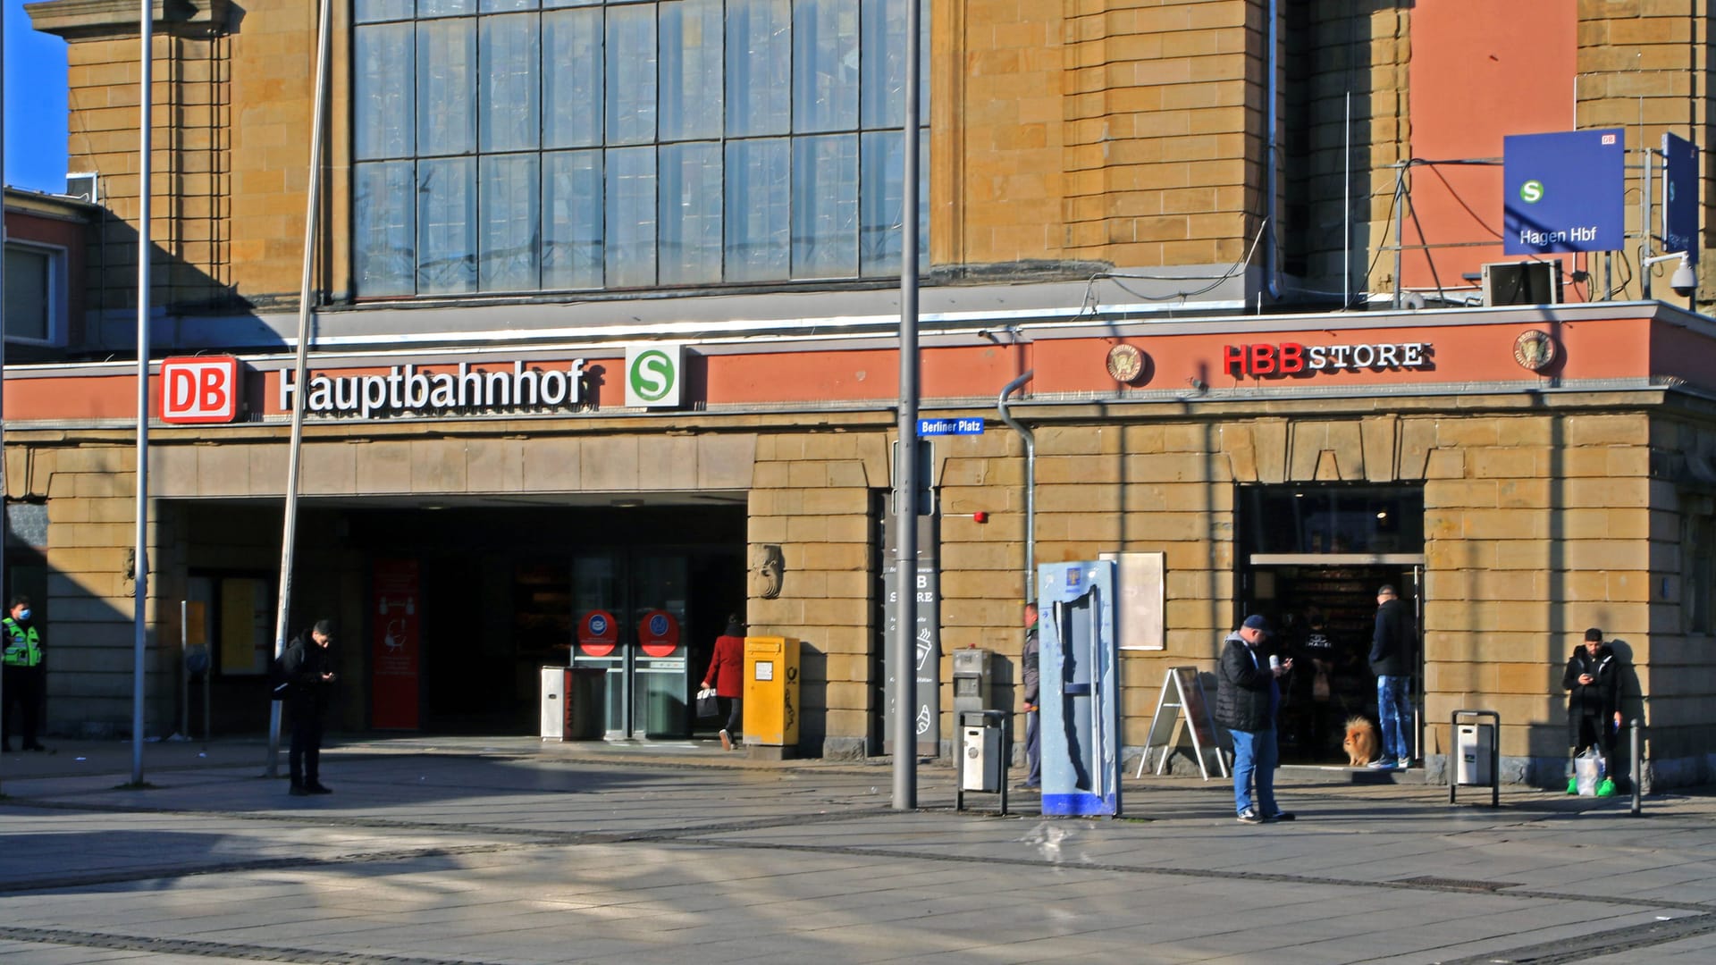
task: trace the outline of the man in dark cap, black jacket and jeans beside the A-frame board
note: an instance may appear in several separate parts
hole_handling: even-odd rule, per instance
[[[1292,821],[1292,814],[1275,805],[1275,716],[1282,690],[1277,683],[1292,670],[1292,659],[1265,652],[1270,625],[1251,615],[1222,640],[1222,665],[1215,687],[1215,723],[1234,737],[1234,809],[1241,824]],[[1251,785],[1258,804],[1251,805]]]

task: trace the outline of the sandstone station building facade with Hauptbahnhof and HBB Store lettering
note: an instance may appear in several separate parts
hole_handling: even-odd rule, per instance
[[[1716,330],[1637,300],[1637,252],[1563,258],[1563,304],[1477,304],[1460,276],[1503,258],[1460,213],[1500,175],[1429,163],[1567,127],[1702,144],[1704,22],[1491,7],[934,2],[908,137],[899,3],[336,3],[293,599],[347,628],[341,725],[529,731],[539,668],[570,659],[595,671],[590,733],[695,733],[685,689],[738,611],[803,640],[807,752],[884,749],[916,139],[923,412],[985,421],[930,457],[944,690],[946,652],[987,647],[1018,706],[1028,546],[1160,561],[1160,634],[1122,659],[1134,749],[1163,671],[1211,668],[1244,613],[1320,615],[1357,652],[1393,582],[1426,762],[1486,707],[1510,780],[1560,780],[1560,665],[1599,625],[1653,780],[1704,780]],[[106,215],[79,337],[7,376],[7,498],[48,519],[50,730],[101,730],[130,694],[134,385],[110,357],[134,338],[137,45],[117,3],[31,15],[69,41],[72,167]],[[1524,19],[1544,43],[1507,41]],[[314,12],[196,0],[158,27],[154,343],[233,359],[240,405],[151,436],[149,719],[172,730],[194,639],[218,726],[254,728]],[[1495,91],[1507,110],[1448,110]],[[631,395],[652,349],[676,404]],[[995,404],[1026,374],[1030,453]],[[178,398],[182,369],[156,378]],[[1342,668],[1344,709],[1366,682]],[[1328,733],[1294,725],[1321,759]]]

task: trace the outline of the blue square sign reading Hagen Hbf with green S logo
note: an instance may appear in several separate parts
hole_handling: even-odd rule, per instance
[[[1502,251],[1618,251],[1627,137],[1620,127],[1502,139]]]

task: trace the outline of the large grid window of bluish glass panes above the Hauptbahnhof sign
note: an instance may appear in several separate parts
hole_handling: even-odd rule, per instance
[[[353,0],[353,17],[359,297],[899,271],[906,0]],[[916,144],[927,194],[923,127]],[[927,235],[920,213],[925,268]]]

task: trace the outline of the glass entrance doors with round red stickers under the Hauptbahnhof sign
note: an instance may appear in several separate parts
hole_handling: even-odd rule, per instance
[[[571,565],[573,668],[601,671],[607,740],[690,737],[683,553],[613,549]]]

